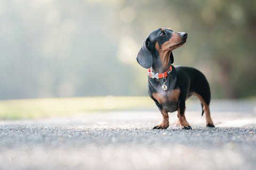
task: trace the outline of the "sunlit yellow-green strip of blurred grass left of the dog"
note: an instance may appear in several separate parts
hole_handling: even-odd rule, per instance
[[[151,109],[154,101],[149,97],[79,97],[0,100],[0,119],[16,120],[77,113]]]

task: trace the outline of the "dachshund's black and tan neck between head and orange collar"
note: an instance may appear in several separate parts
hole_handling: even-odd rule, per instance
[[[155,73],[163,73],[166,72],[171,66],[170,54],[169,52],[156,53],[153,56],[153,65],[151,70]]]

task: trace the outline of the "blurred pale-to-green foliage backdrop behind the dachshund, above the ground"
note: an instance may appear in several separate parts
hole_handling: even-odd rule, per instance
[[[0,99],[146,96],[135,57],[157,28],[188,33],[174,65],[213,98],[256,96],[256,2],[0,0]]]

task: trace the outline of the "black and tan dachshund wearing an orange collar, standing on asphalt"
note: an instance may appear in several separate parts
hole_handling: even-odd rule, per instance
[[[178,111],[178,125],[191,129],[185,117],[185,101],[196,96],[205,112],[206,126],[214,127],[210,116],[210,86],[200,71],[187,66],[172,66],[172,50],[186,43],[187,33],[159,28],[149,33],[143,41],[137,61],[148,70],[148,94],[162,113],[163,121],[153,129],[169,126],[169,112]]]

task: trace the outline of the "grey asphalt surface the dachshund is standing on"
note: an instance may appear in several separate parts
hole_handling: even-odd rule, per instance
[[[234,106],[235,107],[235,106]],[[186,113],[193,130],[151,130],[157,111],[0,121],[0,169],[255,169],[256,114]]]

